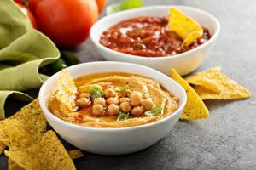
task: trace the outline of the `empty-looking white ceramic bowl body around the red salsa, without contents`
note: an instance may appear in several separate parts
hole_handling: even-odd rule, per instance
[[[188,14],[190,17],[199,22],[199,24],[207,28],[212,38],[202,44],[201,46],[191,49],[183,54],[177,54],[174,56],[166,57],[138,57],[131,54],[124,54],[113,49],[103,46],[99,39],[103,31],[108,30],[109,27],[119,23],[123,20],[128,20],[137,16],[168,16],[168,9],[170,7],[179,8],[184,14]],[[220,31],[220,25],[218,20],[201,9],[185,7],[185,6],[150,6],[145,8],[131,9],[116,14],[110,14],[98,20],[90,30],[90,39],[96,45],[97,50],[102,57],[107,60],[124,61],[130,63],[137,63],[141,65],[147,65],[158,71],[169,75],[171,68],[175,68],[181,75],[188,74],[198,68],[203,60],[207,57],[207,54],[212,50],[214,43],[218,37]]]

